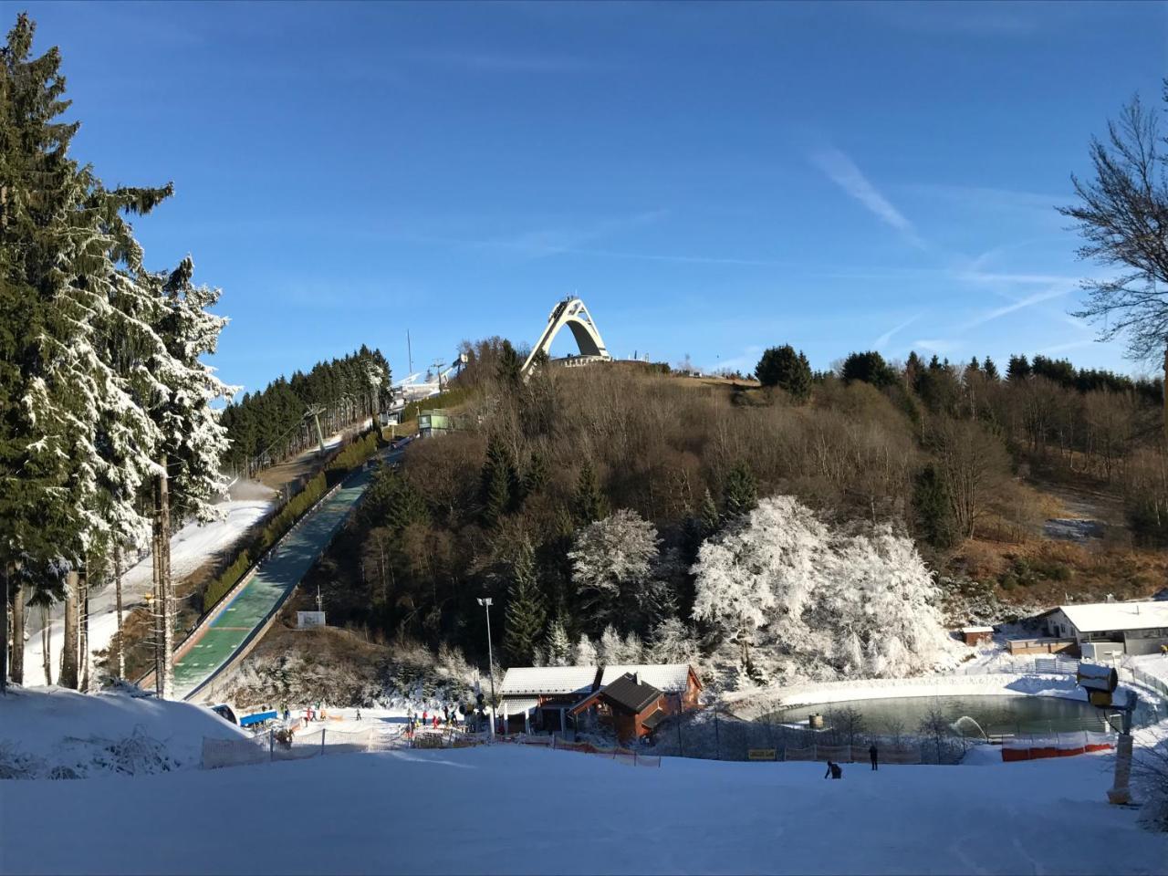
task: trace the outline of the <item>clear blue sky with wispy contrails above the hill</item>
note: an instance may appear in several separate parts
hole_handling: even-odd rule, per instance
[[[174,181],[139,237],[223,288],[232,383],[362,342],[401,377],[406,329],[416,368],[534,342],[572,292],[619,356],[1143,370],[1068,315],[1100,269],[1052,206],[1159,99],[1162,4],[27,8],[75,154]]]

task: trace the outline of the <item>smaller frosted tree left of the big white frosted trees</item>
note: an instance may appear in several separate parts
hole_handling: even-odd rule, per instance
[[[660,588],[653,568],[659,543],[653,524],[626,508],[577,533],[568,558],[585,623],[592,628],[628,626],[656,613]]]

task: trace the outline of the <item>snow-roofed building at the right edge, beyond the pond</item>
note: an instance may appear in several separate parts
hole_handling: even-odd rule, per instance
[[[1059,605],[1042,618],[1048,634],[1075,639],[1089,659],[1155,654],[1168,645],[1168,602]]]

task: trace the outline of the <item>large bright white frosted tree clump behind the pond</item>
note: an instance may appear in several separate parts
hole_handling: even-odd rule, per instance
[[[909,538],[832,530],[792,496],[764,499],[693,571],[694,617],[732,646],[717,662],[759,681],[913,675],[954,648]]]

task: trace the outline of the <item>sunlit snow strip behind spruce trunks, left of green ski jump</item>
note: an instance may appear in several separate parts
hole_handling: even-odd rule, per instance
[[[271,502],[262,499],[231,500],[218,506],[225,512],[222,520],[211,523],[190,522],[182,527],[171,538],[171,569],[175,580],[181,580],[194,572],[218,551],[230,548],[238,538],[259,520]],[[152,588],[151,557],[147,554],[140,562],[123,575],[121,600],[124,611],[141,605]],[[105,651],[118,631],[117,612],[114,611],[113,584],[90,597],[89,641],[90,653]],[[42,625],[39,609],[29,609],[28,640],[25,644],[25,684],[27,687],[44,684],[44,658],[42,646]],[[49,653],[53,663],[53,677],[56,680],[61,668],[61,645],[63,642],[64,620],[61,609],[57,617],[49,623]]]

